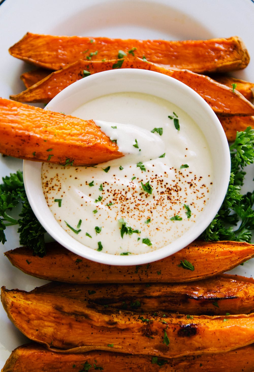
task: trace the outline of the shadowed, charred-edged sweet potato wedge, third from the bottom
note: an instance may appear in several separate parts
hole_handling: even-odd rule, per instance
[[[116,309],[192,315],[254,312],[254,280],[221,275],[192,283],[67,284],[50,282],[32,293],[61,294]]]

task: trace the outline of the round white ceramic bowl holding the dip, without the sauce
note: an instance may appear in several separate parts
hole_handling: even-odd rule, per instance
[[[205,206],[205,213],[194,224],[194,227],[167,246],[149,253],[120,256],[98,252],[79,243],[55,220],[42,190],[42,164],[24,161],[23,174],[28,200],[36,217],[46,231],[62,246],[96,262],[136,265],[163,259],[199,237],[215,217],[224,200],[231,163],[224,130],[210,106],[194,90],[164,74],[138,69],[119,69],[93,74],[65,88],[51,100],[46,108],[69,114],[85,102],[117,92],[148,93],[166,99],[187,112],[205,135],[212,154],[213,187]]]

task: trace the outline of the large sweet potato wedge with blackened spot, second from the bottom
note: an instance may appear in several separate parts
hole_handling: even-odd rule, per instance
[[[223,353],[254,342],[254,314],[149,315],[113,310],[56,294],[1,290],[4,310],[33,341],[52,350],[110,350],[172,358]],[[145,321],[144,321],[145,320]]]

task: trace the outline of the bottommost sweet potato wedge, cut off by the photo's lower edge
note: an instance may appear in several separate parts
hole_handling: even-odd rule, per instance
[[[170,360],[152,356],[129,355],[106,351],[87,353],[55,353],[43,346],[30,343],[13,350],[2,372],[253,372],[254,345],[227,353],[186,356]],[[85,369],[87,368],[87,369]],[[91,369],[90,369],[91,368]]]

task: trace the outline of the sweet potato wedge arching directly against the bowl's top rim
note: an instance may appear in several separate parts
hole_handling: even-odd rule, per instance
[[[121,63],[119,64],[119,62]],[[83,78],[86,71],[89,74],[94,74],[100,71],[112,70],[118,64],[121,68],[141,68],[143,70],[156,71],[181,81],[200,94],[217,114],[226,116],[254,115],[254,106],[237,90],[233,92],[232,87],[229,88],[205,75],[147,62],[138,57],[134,57],[131,60],[110,60],[104,62],[79,60],[62,70],[51,73],[25,91],[12,95],[10,98],[19,102],[48,103],[62,89]]]

